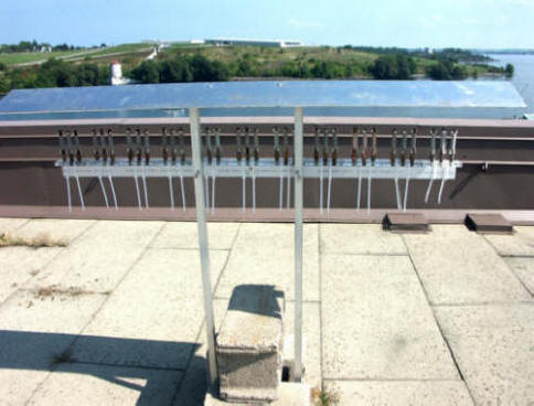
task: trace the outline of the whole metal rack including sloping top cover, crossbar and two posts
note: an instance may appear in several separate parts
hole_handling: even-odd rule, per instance
[[[409,92],[405,92],[409,88]],[[357,182],[356,209],[360,209],[360,193],[362,180],[367,181],[367,210],[371,206],[371,184],[373,179],[388,179],[394,181],[397,209],[406,210],[406,200],[410,180],[427,180],[428,188],[425,201],[428,201],[432,183],[439,181],[438,202],[447,180],[456,177],[457,168],[461,165],[455,159],[457,131],[449,136],[441,133],[439,160],[429,157],[429,159],[415,159],[415,157],[403,158],[403,161],[393,156],[391,160],[377,159],[376,156],[354,161],[354,159],[337,159],[333,162],[332,157],[327,161],[309,159],[303,157],[303,108],[305,107],[363,107],[363,106],[453,106],[453,107],[473,107],[492,105],[494,98],[488,97],[488,89],[498,92],[501,98],[505,100],[515,100],[515,92],[508,85],[495,87],[493,83],[462,83],[461,86],[455,83],[435,83],[435,82],[410,82],[387,84],[381,82],[361,82],[361,81],[312,81],[312,82],[263,82],[263,83],[217,83],[217,84],[174,84],[174,85],[145,85],[145,86],[119,86],[119,87],[100,87],[84,89],[45,89],[39,90],[40,98],[31,98],[30,106],[26,109],[39,110],[47,108],[50,104],[54,105],[56,110],[114,110],[117,106],[122,109],[142,109],[142,108],[168,108],[168,109],[188,109],[189,126],[191,135],[192,159],[186,159],[175,164],[169,164],[162,159],[151,159],[150,164],[142,161],[139,164],[129,164],[127,159],[113,159],[105,164],[97,160],[60,160],[56,165],[62,168],[63,175],[67,183],[68,202],[71,206],[71,178],[76,180],[81,202],[83,205],[83,195],[79,186],[79,178],[97,178],[105,195],[106,205],[109,206],[105,194],[103,179],[108,179],[111,192],[113,204],[118,209],[117,196],[113,185],[114,178],[134,179],[138,204],[141,209],[141,195],[139,180],[141,180],[145,190],[145,201],[147,199],[147,178],[167,178],[169,179],[169,192],[171,206],[174,209],[174,197],[172,195],[172,179],[180,178],[183,186],[183,178],[194,180],[194,195],[196,206],[196,220],[199,228],[199,246],[201,255],[204,312],[206,322],[207,336],[207,364],[209,377],[211,383],[217,381],[217,367],[215,359],[215,328],[213,316],[213,295],[210,278],[210,255],[207,245],[206,212],[210,210],[209,202],[209,178],[212,178],[212,203],[211,210],[214,210],[214,193],[216,178],[241,178],[243,179],[243,197],[246,193],[246,179],[253,180],[253,210],[255,210],[255,179],[256,178],[279,178],[280,179],[280,209],[282,209],[282,181],[287,180],[287,190],[290,191],[291,180],[295,193],[295,372],[296,381],[302,376],[302,212],[303,212],[303,179],[314,178],[321,180],[321,197],[323,180],[328,180],[328,201],[325,203],[327,212],[330,209],[331,181],[335,178],[354,179]],[[76,98],[79,106],[68,104],[70,94],[78,95],[84,92],[84,97]],[[490,92],[490,93],[491,93]],[[426,100],[423,103],[421,95]],[[42,97],[41,97],[42,96]],[[15,98],[24,98],[25,94],[17,94]],[[149,101],[137,104],[136,100]],[[511,101],[511,103],[512,103]],[[508,101],[506,101],[508,103]],[[293,158],[288,164],[280,165],[275,159],[260,158],[257,160],[241,160],[236,163],[232,159],[212,160],[209,162],[202,154],[202,132],[200,111],[203,108],[290,108],[292,109],[292,139],[293,139]],[[316,135],[317,137],[317,135]],[[393,135],[392,135],[392,138]],[[406,136],[403,135],[403,142]],[[415,138],[415,137],[414,137]],[[431,137],[431,150],[436,151],[437,139],[439,133]],[[445,142],[444,142],[445,141]],[[77,140],[75,141],[77,142]],[[317,141],[316,141],[317,142]],[[446,146],[449,145],[449,148]],[[445,146],[445,149],[444,149]],[[113,145],[109,146],[113,148]],[[394,150],[392,145],[392,151]],[[71,148],[73,148],[71,146]],[[415,140],[414,140],[415,152]],[[406,152],[406,145],[402,146]],[[448,158],[445,157],[448,156]],[[445,159],[444,159],[445,158]],[[405,161],[406,160],[406,161]],[[406,164],[405,164],[406,163]],[[405,180],[404,193],[399,191],[398,181]],[[404,195],[404,196],[403,196]],[[182,188],[183,197],[183,188]],[[289,204],[289,193],[287,193]],[[182,199],[183,201],[183,199]],[[243,200],[245,202],[245,199]],[[323,202],[320,207],[322,212]],[[243,204],[245,210],[245,204]],[[185,209],[185,206],[183,206]]]

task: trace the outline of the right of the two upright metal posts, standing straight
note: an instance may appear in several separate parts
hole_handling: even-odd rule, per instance
[[[295,381],[302,378],[302,211],[303,120],[295,107]]]

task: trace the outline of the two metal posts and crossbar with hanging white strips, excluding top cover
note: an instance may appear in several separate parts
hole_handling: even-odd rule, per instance
[[[79,186],[79,178],[97,178],[99,180],[106,205],[108,205],[108,199],[106,196],[103,179],[108,179],[114,199],[114,206],[118,209],[117,196],[115,194],[115,188],[113,183],[114,178],[129,178],[135,180],[137,189],[137,197],[139,207],[141,209],[141,195],[139,188],[139,180],[143,182],[145,200],[148,206],[147,196],[147,178],[163,178],[169,179],[169,192],[172,207],[174,209],[174,196],[172,192],[172,180],[179,178],[182,185],[182,202],[183,202],[183,179],[192,178],[194,180],[194,194],[196,205],[196,220],[199,228],[199,245],[201,253],[201,267],[203,279],[203,295],[204,295],[204,311],[206,319],[206,333],[209,345],[209,372],[211,383],[215,383],[217,380],[217,368],[215,360],[215,328],[213,318],[213,296],[211,290],[210,278],[210,255],[207,245],[207,229],[206,229],[206,211],[214,210],[213,196],[215,193],[215,179],[216,178],[237,178],[243,179],[243,202],[245,202],[246,193],[246,179],[253,180],[253,210],[255,210],[255,179],[256,178],[274,178],[280,179],[280,209],[282,209],[282,181],[287,180],[287,207],[289,204],[289,192],[292,180],[292,188],[295,190],[295,378],[299,381],[302,374],[302,212],[303,212],[303,179],[314,178],[320,179],[320,188],[323,188],[323,180],[328,180],[328,202],[327,212],[330,210],[330,189],[332,179],[354,179],[357,181],[357,207],[360,209],[360,193],[362,179],[367,181],[367,210],[371,204],[371,181],[373,179],[388,179],[395,181],[395,193],[397,196],[398,209],[406,209],[406,199],[408,194],[409,180],[428,180],[427,199],[430,192],[434,181],[440,181],[439,196],[442,191],[444,183],[447,180],[453,180],[456,177],[456,170],[460,163],[456,160],[445,159],[438,160],[413,160],[413,162],[400,163],[400,160],[396,157],[393,160],[386,159],[367,159],[364,162],[362,159],[354,162],[353,159],[337,159],[333,162],[332,157],[328,159],[328,162],[323,162],[322,159],[318,160],[303,157],[303,114],[302,107],[295,107],[293,117],[293,159],[289,160],[289,164],[280,164],[275,158],[259,158],[256,160],[239,160],[222,158],[218,160],[213,159],[211,163],[206,157],[203,157],[203,135],[201,132],[200,111],[199,108],[192,107],[189,109],[189,124],[191,133],[191,148],[192,159],[185,159],[170,163],[168,160],[161,158],[153,158],[150,163],[146,163],[145,160],[140,160],[137,163],[129,161],[125,158],[113,160],[96,160],[84,159],[77,160],[71,158],[71,160],[58,160],[57,167],[62,168],[63,177],[65,178],[67,185],[68,204],[71,207],[71,179],[76,180],[81,202],[83,204],[83,195]],[[449,139],[449,149],[445,154],[453,157],[453,150],[456,150],[456,135],[452,132],[448,138],[447,133],[444,135],[441,148],[447,146]],[[405,135],[406,138],[406,135]],[[445,141],[445,143],[444,143]],[[432,138],[431,142],[436,142],[436,138]],[[73,143],[76,143],[74,141]],[[70,154],[74,156],[75,146],[71,145]],[[414,151],[415,152],[415,151]],[[209,179],[212,178],[212,203],[209,202]],[[398,180],[405,180],[404,203],[402,202],[398,189]],[[321,190],[322,196],[322,190]],[[438,201],[440,197],[438,197]],[[321,202],[321,211],[322,211]],[[109,206],[109,205],[108,205]],[[210,207],[211,206],[211,207]],[[199,207],[202,207],[199,210]],[[245,203],[243,205],[245,210]],[[185,210],[185,206],[184,206]]]

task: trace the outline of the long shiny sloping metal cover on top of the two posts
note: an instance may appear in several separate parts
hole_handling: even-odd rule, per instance
[[[263,81],[18,89],[0,113],[241,107],[525,107],[509,82]]]

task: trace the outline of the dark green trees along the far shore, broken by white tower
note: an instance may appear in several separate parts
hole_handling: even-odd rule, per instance
[[[393,51],[392,51],[393,52]],[[167,58],[165,58],[167,57]],[[375,79],[410,79],[417,72],[437,81],[460,81],[477,77],[480,72],[513,75],[513,65],[505,67],[487,64],[466,64],[451,57],[441,57],[426,64],[409,53],[383,52],[371,63],[335,58],[298,57],[291,61],[265,64],[260,57],[245,53],[234,60],[209,58],[201,53],[165,55],[162,60],[143,61],[125,75],[138,83],[223,82],[233,77],[291,77],[344,79],[371,76]],[[79,64],[51,58],[42,65],[8,68],[0,63],[0,94],[12,88],[68,87],[106,85],[109,68],[85,61]]]

